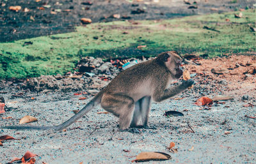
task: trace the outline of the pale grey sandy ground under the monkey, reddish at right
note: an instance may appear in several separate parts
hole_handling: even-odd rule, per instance
[[[0,135],[20,139],[3,142],[1,163],[7,163],[15,156],[20,158],[26,151],[38,154],[36,163],[132,163],[139,153],[145,151],[172,156],[172,160],[147,163],[255,163],[256,57],[247,54],[214,59],[186,58],[191,64],[185,67],[189,68],[196,84],[175,98],[152,103],[149,125],[156,126],[156,130],[142,129],[139,134],[120,132],[116,117],[97,114],[103,111],[97,107],[65,131],[57,133],[1,130]],[[79,78],[88,77],[83,74]],[[61,78],[56,79],[60,81]],[[73,81],[69,86],[72,83],[76,86],[76,82],[79,84],[77,78],[71,79]],[[104,80],[108,78],[97,79],[106,82],[104,85],[109,82]],[[87,82],[88,88],[79,90],[83,94],[74,95],[78,89],[64,91],[63,87],[47,89],[41,85],[46,90],[31,92],[24,88],[28,80],[7,83],[0,85],[0,96],[8,107],[5,113],[0,114],[0,126],[18,124],[19,119],[26,115],[38,119],[29,123],[31,125],[62,123],[74,115],[72,110],[79,110],[88,103],[95,94],[93,91],[104,87]],[[218,94],[232,96],[233,99],[214,101],[211,106],[205,107],[194,104],[202,96],[213,98]],[[79,100],[81,97],[87,99]],[[182,112],[184,116],[163,116],[167,110]],[[175,142],[177,153],[166,149],[170,142]]]

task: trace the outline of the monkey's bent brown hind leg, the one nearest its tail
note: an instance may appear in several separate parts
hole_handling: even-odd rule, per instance
[[[116,93],[105,93],[102,96],[101,107],[119,117],[120,130],[129,128],[134,112],[134,100],[131,97]]]

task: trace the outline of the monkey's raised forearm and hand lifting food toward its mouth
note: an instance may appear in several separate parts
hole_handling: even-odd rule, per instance
[[[182,82],[182,84],[180,84],[179,86],[170,87],[168,89],[165,89],[162,92],[159,90],[155,91],[153,98],[156,102],[166,100],[168,98],[171,98],[172,96],[175,96],[176,94],[181,93],[188,87],[192,86],[194,83],[195,83],[194,80],[189,79],[189,80]],[[159,89],[160,89],[160,87],[159,87]]]

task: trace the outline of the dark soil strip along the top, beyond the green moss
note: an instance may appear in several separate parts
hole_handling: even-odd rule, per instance
[[[86,5],[86,2],[92,4]],[[183,0],[0,1],[0,42],[75,31],[76,26],[83,25],[81,18],[84,17],[92,22],[170,19],[253,8],[253,4],[253,0],[201,0],[196,4],[185,4]],[[9,10],[10,6],[21,6],[21,9]],[[120,18],[113,17],[114,14]]]

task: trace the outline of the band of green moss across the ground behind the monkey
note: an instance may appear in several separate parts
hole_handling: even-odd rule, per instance
[[[236,19],[234,13],[239,12],[136,21],[138,24],[96,23],[77,27],[73,33],[0,43],[0,78],[63,74],[72,70],[83,56],[104,59],[156,56],[166,50],[210,57],[255,52],[255,32],[250,29],[255,26],[255,10],[243,11],[241,19]],[[123,34],[124,31],[128,34]],[[33,44],[22,46],[24,41]],[[147,47],[138,49],[138,45]]]

